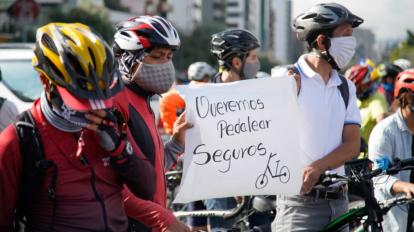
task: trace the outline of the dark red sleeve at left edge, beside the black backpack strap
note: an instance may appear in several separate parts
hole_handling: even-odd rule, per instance
[[[11,231],[20,179],[20,151],[13,125],[0,134],[0,231]]]

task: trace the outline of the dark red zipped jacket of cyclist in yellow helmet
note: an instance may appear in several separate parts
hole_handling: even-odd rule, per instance
[[[50,125],[40,110],[39,100],[35,101],[31,113],[40,132],[45,159],[53,161],[58,171],[54,231],[127,231],[121,194],[123,184],[119,174],[108,164],[108,152],[101,148],[95,134],[84,132],[83,155],[89,164],[82,164],[75,156],[75,134]],[[19,188],[20,158],[18,137],[14,126],[10,125],[0,134],[0,231],[8,231],[12,221]],[[30,231],[49,231],[53,208],[47,196],[50,180],[51,170],[48,170],[40,196],[27,217]]]

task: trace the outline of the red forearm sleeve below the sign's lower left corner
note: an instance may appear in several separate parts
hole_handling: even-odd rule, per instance
[[[166,231],[174,222],[175,216],[167,208],[155,202],[135,197],[126,187],[122,194],[124,196],[125,212],[128,217],[161,232]]]

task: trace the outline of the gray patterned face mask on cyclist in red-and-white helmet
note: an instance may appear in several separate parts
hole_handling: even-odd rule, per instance
[[[164,64],[140,63],[131,81],[150,93],[162,94],[174,84],[175,69],[172,61]]]

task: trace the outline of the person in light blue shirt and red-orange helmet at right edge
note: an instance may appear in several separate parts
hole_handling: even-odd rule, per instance
[[[384,156],[389,160],[408,159],[414,154],[414,71],[398,74],[394,96],[398,110],[379,122],[369,139],[369,158],[372,161]],[[400,172],[396,176],[374,179],[375,197],[381,201],[398,194],[414,196],[414,172]],[[409,209],[407,209],[409,208]],[[414,209],[407,205],[393,207],[382,223],[384,231],[412,231]],[[408,225],[408,227],[407,227]]]

